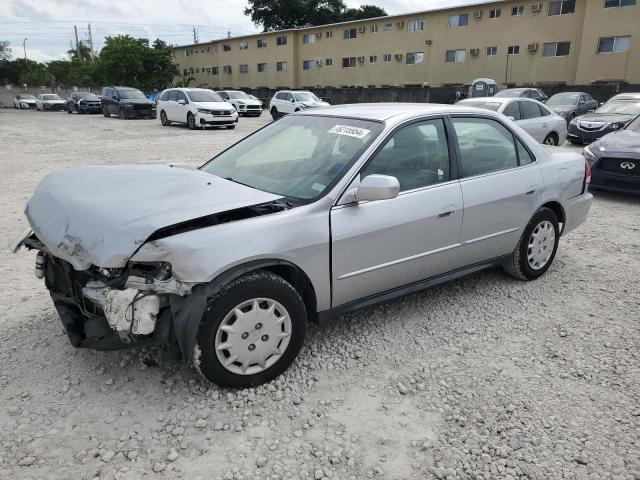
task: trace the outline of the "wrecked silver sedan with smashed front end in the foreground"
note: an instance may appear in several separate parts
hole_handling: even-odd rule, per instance
[[[466,105],[342,105],[192,170],[83,165],[28,202],[76,347],[176,341],[210,381],[266,382],[324,320],[501,265],[542,276],[587,217],[589,165]],[[498,301],[498,300],[496,300]]]

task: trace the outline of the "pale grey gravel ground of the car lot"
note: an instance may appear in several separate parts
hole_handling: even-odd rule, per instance
[[[264,125],[0,110],[0,245],[48,172],[197,165]],[[598,194],[533,283],[489,270],[311,326],[219,389],[177,348],[69,345],[34,254],[0,253],[0,478],[640,479],[640,199]]]

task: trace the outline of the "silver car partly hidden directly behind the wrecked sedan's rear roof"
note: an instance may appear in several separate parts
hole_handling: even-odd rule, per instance
[[[567,139],[567,122],[545,105],[528,98],[467,98],[461,105],[502,113],[514,120],[538,142],[561,145]]]

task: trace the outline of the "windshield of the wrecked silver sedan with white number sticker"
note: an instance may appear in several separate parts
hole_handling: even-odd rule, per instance
[[[284,117],[222,152],[205,172],[289,198],[318,197],[382,130],[350,118]]]

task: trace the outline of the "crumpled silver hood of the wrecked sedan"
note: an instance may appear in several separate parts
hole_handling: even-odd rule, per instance
[[[170,165],[86,165],[47,175],[25,214],[56,257],[121,268],[156,230],[278,195]]]

